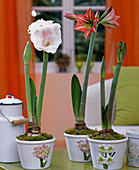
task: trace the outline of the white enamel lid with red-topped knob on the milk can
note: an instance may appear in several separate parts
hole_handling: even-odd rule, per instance
[[[22,103],[21,100],[14,98],[11,94],[8,94],[6,98],[0,100],[0,105],[18,105]]]

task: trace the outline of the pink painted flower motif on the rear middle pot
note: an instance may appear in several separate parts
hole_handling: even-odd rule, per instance
[[[83,152],[84,160],[88,160],[91,156],[88,140],[77,141],[77,147]]]

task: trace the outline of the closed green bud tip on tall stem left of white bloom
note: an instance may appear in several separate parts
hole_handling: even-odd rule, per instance
[[[24,50],[24,55],[23,55],[23,58],[24,58],[24,64],[29,64],[30,62],[30,59],[31,59],[31,49],[30,49],[30,44],[29,44],[29,41],[27,42],[27,45],[25,47],[25,50]]]

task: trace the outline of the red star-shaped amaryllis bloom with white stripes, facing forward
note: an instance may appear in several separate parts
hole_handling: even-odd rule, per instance
[[[85,33],[85,39],[90,33],[96,32],[98,17],[95,17],[91,8],[89,8],[84,15],[75,15],[78,21],[74,29]]]

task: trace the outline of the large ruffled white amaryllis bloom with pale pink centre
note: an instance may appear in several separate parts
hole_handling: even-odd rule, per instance
[[[30,39],[38,51],[54,54],[62,42],[60,28],[60,24],[41,19],[29,26],[28,33],[31,34]]]

